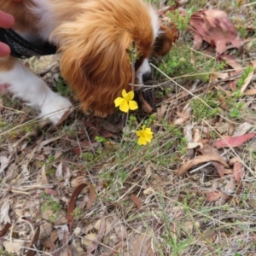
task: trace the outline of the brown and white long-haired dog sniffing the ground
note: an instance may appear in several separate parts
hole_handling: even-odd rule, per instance
[[[132,45],[139,54],[137,84],[150,73],[148,58],[172,47],[173,32],[143,0],[0,0],[0,9],[15,16],[15,32],[26,40],[58,45],[63,78],[84,113],[100,117],[113,113],[123,89],[131,90]],[[0,58],[0,84],[54,124],[72,105],[12,56]]]

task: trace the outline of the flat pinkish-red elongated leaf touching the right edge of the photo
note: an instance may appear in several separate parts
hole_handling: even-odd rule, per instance
[[[213,145],[216,148],[236,148],[241,146],[243,143],[246,143],[248,140],[255,137],[255,133],[247,133],[241,136],[235,136],[235,137],[224,137],[223,139],[220,139],[213,143]]]

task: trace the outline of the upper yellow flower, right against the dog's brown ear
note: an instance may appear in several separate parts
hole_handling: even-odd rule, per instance
[[[122,90],[122,96],[118,97],[114,100],[115,107],[119,107],[119,109],[125,113],[131,110],[137,109],[137,102],[132,101],[134,98],[134,92],[131,90],[128,93],[126,93],[126,90]]]

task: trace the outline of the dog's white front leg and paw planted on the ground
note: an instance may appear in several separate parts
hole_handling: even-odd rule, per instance
[[[10,71],[0,72],[0,84],[9,84],[15,97],[26,101],[29,106],[40,109],[40,117],[49,118],[57,124],[62,115],[72,106],[64,97],[49,89],[42,79],[29,71],[20,61]]]

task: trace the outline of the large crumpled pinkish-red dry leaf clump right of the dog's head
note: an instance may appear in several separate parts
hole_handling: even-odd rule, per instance
[[[239,48],[242,40],[238,38],[236,26],[228,15],[219,9],[208,9],[195,12],[189,20],[190,29],[195,32],[194,47],[199,49],[202,41],[216,46],[218,54],[222,54],[228,44]]]

